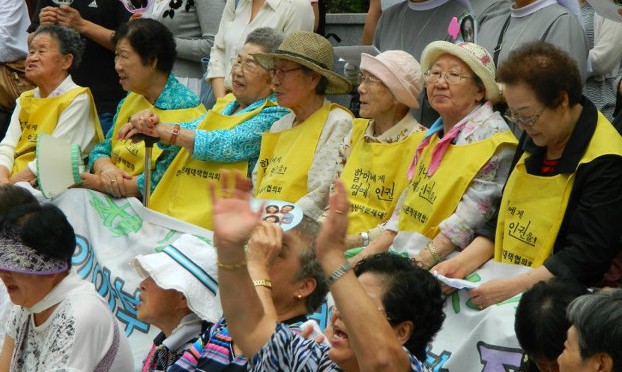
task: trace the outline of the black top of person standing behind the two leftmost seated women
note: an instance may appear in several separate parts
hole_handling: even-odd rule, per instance
[[[57,5],[52,0],[39,0],[28,32],[39,27],[39,13],[47,6]],[[131,15],[119,0],[74,0],[71,7],[77,9],[82,18],[109,30],[116,30]],[[85,42],[82,63],[71,77],[76,84],[91,89],[99,114],[114,114],[119,101],[125,97],[114,69],[114,53],[87,37],[82,36],[82,40]]]

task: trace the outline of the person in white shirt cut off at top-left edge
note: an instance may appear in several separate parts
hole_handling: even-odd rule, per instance
[[[0,65],[26,58],[28,25],[30,18],[24,0],[0,1]],[[14,102],[11,107],[0,105],[0,140],[4,138],[14,108]]]

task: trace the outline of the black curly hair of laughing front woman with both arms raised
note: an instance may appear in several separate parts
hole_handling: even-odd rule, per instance
[[[427,270],[414,266],[405,257],[379,253],[361,260],[354,273],[378,274],[385,288],[382,305],[392,325],[413,322],[413,333],[404,346],[419,360],[426,359],[425,349],[445,320],[441,287]]]

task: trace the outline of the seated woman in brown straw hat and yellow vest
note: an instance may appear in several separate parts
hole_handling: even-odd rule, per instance
[[[318,218],[337,176],[339,145],[352,128],[352,114],[325,95],[352,87],[332,71],[330,42],[312,32],[293,32],[275,53],[255,58],[270,71],[279,105],[292,111],[262,137],[253,171],[255,197],[296,203]]]

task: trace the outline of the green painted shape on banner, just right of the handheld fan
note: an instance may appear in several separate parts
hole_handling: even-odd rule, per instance
[[[90,204],[102,219],[102,224],[112,232],[115,237],[128,236],[138,232],[143,226],[143,220],[134,213],[130,203],[117,205],[115,200],[109,196],[99,198],[97,194],[91,194]],[[129,210],[129,211],[128,211]],[[131,213],[129,213],[131,212]]]

